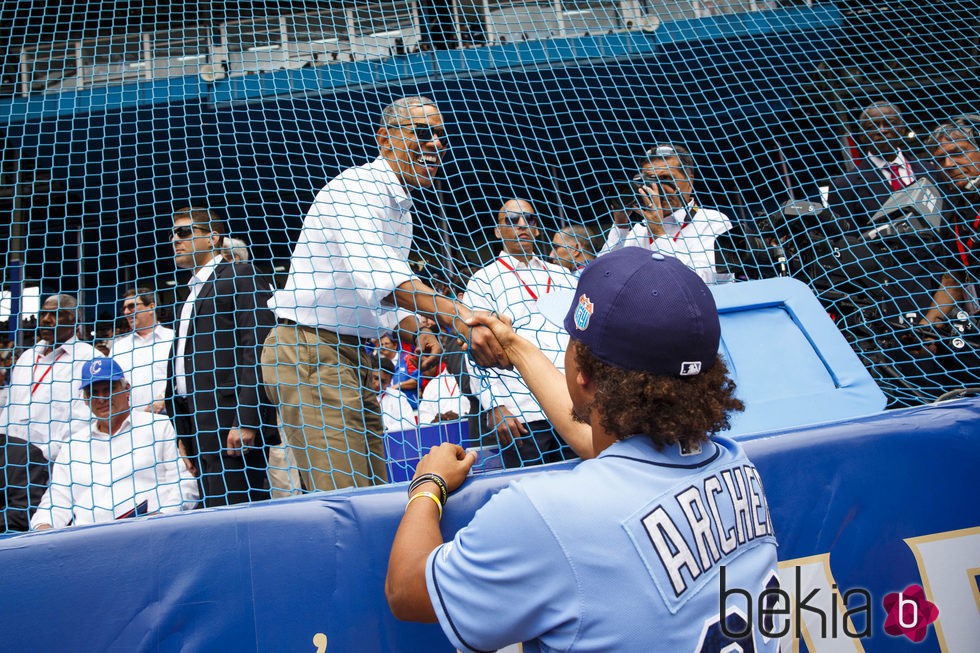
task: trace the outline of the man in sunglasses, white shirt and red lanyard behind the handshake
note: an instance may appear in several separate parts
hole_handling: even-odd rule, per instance
[[[563,369],[568,335],[538,311],[537,303],[559,288],[574,288],[575,277],[563,267],[545,263],[534,253],[538,216],[527,200],[504,202],[497,214],[494,235],[500,239],[500,255],[477,270],[466,286],[463,301],[475,310],[507,315],[514,330],[534,342]],[[512,370],[471,369],[479,388],[480,403],[495,431],[504,465],[541,464],[564,460],[569,450],[545,417],[531,391]],[[421,418],[420,418],[421,421]]]

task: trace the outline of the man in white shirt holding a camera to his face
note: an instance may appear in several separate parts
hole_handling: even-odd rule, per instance
[[[695,202],[691,153],[680,145],[650,148],[633,181],[637,208],[614,212],[600,256],[621,247],[642,247],[679,259],[707,283],[716,281],[715,241],[732,223],[724,213]],[[636,214],[642,219],[631,225]]]

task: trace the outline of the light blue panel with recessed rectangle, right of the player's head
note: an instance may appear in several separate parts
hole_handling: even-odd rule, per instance
[[[727,435],[878,413],[886,398],[806,284],[712,286],[722,352],[745,411]]]

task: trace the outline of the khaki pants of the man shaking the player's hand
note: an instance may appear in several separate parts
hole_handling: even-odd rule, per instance
[[[307,490],[384,483],[374,366],[358,339],[280,324],[262,350],[262,379]]]

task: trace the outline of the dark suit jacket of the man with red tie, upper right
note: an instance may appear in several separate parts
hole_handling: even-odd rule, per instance
[[[935,171],[911,157],[907,161],[916,179],[930,176]],[[845,231],[866,231],[871,228],[871,216],[881,209],[893,192],[891,182],[881,171],[870,161],[863,161],[857,170],[830,180],[827,205],[838,220],[844,222]]]

